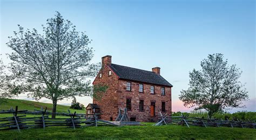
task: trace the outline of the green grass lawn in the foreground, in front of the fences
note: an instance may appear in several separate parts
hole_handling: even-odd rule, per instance
[[[256,139],[256,129],[179,125],[24,129],[0,131],[0,139]]]

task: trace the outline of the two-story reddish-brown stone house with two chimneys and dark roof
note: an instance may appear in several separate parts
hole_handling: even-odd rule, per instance
[[[103,120],[115,120],[120,108],[127,108],[131,121],[156,121],[160,111],[171,114],[172,85],[160,75],[159,67],[145,71],[116,65],[106,55],[92,84],[107,86],[101,99],[93,97]]]

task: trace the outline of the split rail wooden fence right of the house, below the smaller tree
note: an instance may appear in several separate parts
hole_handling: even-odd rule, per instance
[[[158,118],[158,122],[154,125],[167,125],[167,124],[178,124],[178,125],[186,125],[188,128],[190,125],[200,126],[200,127],[239,127],[239,128],[256,128],[255,121],[242,121],[242,120],[218,120],[215,118],[198,118],[198,117],[188,117],[187,115],[181,114],[181,116],[167,116],[162,115],[160,112],[160,116]]]

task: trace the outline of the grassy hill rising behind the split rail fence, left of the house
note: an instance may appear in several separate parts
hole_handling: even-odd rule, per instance
[[[47,107],[48,111],[52,111],[51,103],[42,103],[35,101],[27,101],[27,100],[17,100],[17,99],[6,99],[6,103],[0,104],[0,110],[9,110],[11,107],[15,109],[15,106],[18,106],[18,110],[29,110],[33,111],[34,109],[40,110],[41,107],[45,109]],[[57,105],[58,113],[68,113],[68,109],[73,113],[77,112],[77,114],[85,114],[85,110],[76,110],[71,109],[69,106]]]

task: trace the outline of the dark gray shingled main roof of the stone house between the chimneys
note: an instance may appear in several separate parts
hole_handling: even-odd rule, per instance
[[[110,68],[119,76],[120,79],[172,87],[171,83],[166,81],[161,75],[151,71],[116,64],[111,64]]]

